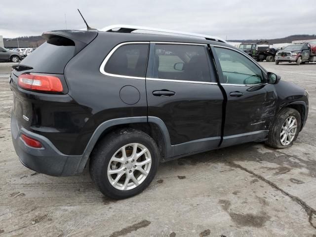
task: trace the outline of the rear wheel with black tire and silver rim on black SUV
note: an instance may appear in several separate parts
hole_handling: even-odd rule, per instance
[[[125,158],[122,155],[124,146],[126,146]],[[146,149],[147,152],[133,159],[135,147],[136,154]],[[101,193],[115,199],[132,197],[141,193],[152,182],[159,165],[159,151],[154,139],[142,131],[130,128],[116,130],[104,137],[98,142],[90,158],[89,169],[92,180]],[[149,158],[151,158],[150,162]],[[113,159],[121,161],[113,161]],[[141,165],[140,162],[144,161],[148,163]],[[109,174],[109,171],[116,169],[121,171]],[[147,176],[140,172],[141,169],[148,171]]]

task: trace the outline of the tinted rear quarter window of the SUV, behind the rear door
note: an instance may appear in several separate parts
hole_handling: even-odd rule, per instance
[[[109,74],[145,78],[148,44],[125,44],[120,46],[104,67]]]

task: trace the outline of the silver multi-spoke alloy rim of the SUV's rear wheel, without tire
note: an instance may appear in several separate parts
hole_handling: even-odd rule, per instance
[[[152,165],[149,150],[142,144],[122,146],[112,156],[108,165],[108,179],[118,190],[131,190],[146,179]]]

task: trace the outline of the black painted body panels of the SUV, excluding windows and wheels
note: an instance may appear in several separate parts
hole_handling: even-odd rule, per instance
[[[50,175],[72,175],[82,171],[82,165],[84,167],[97,140],[117,125],[130,126],[133,123],[141,127],[141,124],[155,124],[157,133],[161,134],[158,143],[163,143],[160,144],[160,155],[162,160],[168,160],[264,140],[276,114],[286,106],[300,111],[303,125],[307,119],[307,92],[294,83],[281,80],[278,84],[255,86],[221,84],[223,75],[212,47],[219,45],[238,50],[229,44],[184,37],[108,32],[81,32],[76,36],[69,31],[60,31],[51,32],[47,37],[54,34],[77,40],[75,56],[65,66],[63,74],[55,75],[63,81],[67,90],[63,94],[47,94],[27,91],[17,85],[17,77],[22,73],[45,73],[40,68],[13,70],[10,79],[14,94],[12,116],[16,119],[18,133],[23,127],[30,136],[40,141],[47,138],[53,150],[68,160],[69,157],[81,157],[80,168],[75,171],[56,171],[50,172]],[[102,74],[100,65],[109,52],[118,44],[129,41],[205,44],[210,82],[213,83],[130,79]],[[152,52],[155,43],[149,44]],[[149,53],[146,78],[153,78],[153,60]],[[266,77],[267,71],[258,66]],[[175,95],[161,97],[152,93],[164,89],[174,91]],[[230,92],[235,91],[244,95],[230,96]],[[128,93],[131,93],[130,103]],[[23,119],[23,115],[29,121]],[[104,125],[110,123],[113,126]],[[22,162],[32,169],[48,173],[36,164],[27,164],[33,157],[23,158],[25,153],[18,152],[21,149],[16,145],[16,139],[13,137],[13,143]],[[76,161],[74,163],[78,166]]]

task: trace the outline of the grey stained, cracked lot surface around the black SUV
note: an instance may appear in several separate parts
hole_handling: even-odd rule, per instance
[[[50,177],[20,163],[12,64],[0,63],[0,237],[316,237],[316,64],[261,64],[309,91],[309,118],[292,147],[248,143],[163,163],[142,194],[116,201],[87,169]]]

